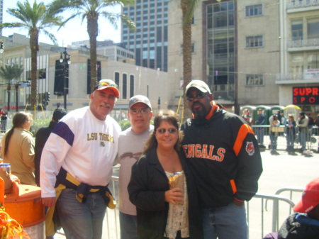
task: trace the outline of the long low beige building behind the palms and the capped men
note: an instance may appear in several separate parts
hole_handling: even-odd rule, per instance
[[[19,40],[14,41],[18,36]],[[18,89],[18,107],[25,109],[29,104],[30,87],[30,49],[25,39],[21,35],[13,34],[12,38],[7,38],[5,43],[3,65],[12,63],[21,64],[25,69],[21,76],[21,86]],[[11,42],[10,42],[11,40]],[[14,44],[11,44],[14,43]],[[68,65],[67,74],[64,73],[60,64],[61,51],[64,48],[53,45],[40,45],[38,53],[38,109],[41,109],[45,92],[50,93],[50,101],[47,110],[57,108],[58,104],[64,107],[64,80],[68,79],[67,110],[77,109],[89,105],[89,51],[67,49],[71,55],[71,63]],[[101,79],[113,79],[120,87],[121,96],[117,101],[113,114],[117,117],[126,117],[128,100],[135,94],[149,96],[153,109],[167,108],[167,72],[137,67],[134,60],[128,58],[127,61],[108,60],[108,57],[98,55],[98,72]],[[66,77],[65,77],[66,76]],[[4,80],[1,79],[3,83]],[[14,82],[11,82],[14,83]],[[0,107],[6,109],[7,90],[6,85],[0,87]],[[11,91],[10,111],[16,111],[16,94]],[[45,107],[44,107],[45,108]]]

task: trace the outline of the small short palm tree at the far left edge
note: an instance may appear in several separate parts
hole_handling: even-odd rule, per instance
[[[0,67],[0,77],[4,78],[7,82],[5,84],[7,85],[6,90],[8,92],[8,111],[10,111],[11,80],[16,79],[18,81],[18,79],[20,79],[21,77],[22,72],[23,72],[23,67],[21,65],[13,64],[13,65],[6,65],[6,67]],[[18,84],[16,84],[16,86],[18,86]],[[16,96],[17,95],[18,94],[16,92]],[[17,99],[16,99],[16,104],[18,104]]]

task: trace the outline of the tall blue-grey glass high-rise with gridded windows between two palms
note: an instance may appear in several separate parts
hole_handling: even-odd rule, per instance
[[[135,54],[136,65],[167,72],[169,0],[137,0],[123,13],[136,24],[135,33],[122,23],[121,42]]]

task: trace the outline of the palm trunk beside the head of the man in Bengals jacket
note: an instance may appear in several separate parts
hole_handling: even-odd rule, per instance
[[[183,99],[184,99],[184,119],[191,117],[191,110],[186,101],[185,89],[187,84],[191,82],[191,20],[185,22],[186,13],[189,9],[190,0],[181,0],[181,12],[183,14]]]

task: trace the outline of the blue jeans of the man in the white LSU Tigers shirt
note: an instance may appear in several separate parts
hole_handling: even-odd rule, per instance
[[[99,193],[89,193],[84,204],[75,198],[74,189],[65,189],[57,199],[57,213],[67,239],[102,238],[106,204]]]

